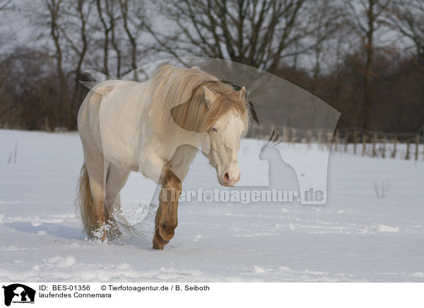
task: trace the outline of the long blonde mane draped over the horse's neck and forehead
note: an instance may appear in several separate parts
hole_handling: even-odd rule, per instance
[[[217,95],[214,104],[206,107],[204,86]],[[162,66],[151,80],[153,96],[148,114],[163,131],[165,137],[175,138],[182,127],[186,131],[204,132],[223,114],[235,110],[249,125],[247,102],[231,85],[200,69],[179,69]]]

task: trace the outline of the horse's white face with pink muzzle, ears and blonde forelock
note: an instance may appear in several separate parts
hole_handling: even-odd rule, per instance
[[[223,85],[223,89],[204,86],[208,112],[201,147],[211,166],[216,169],[218,182],[223,186],[234,186],[240,180],[240,139],[247,134],[249,124],[246,89],[243,87],[236,91],[228,85]]]

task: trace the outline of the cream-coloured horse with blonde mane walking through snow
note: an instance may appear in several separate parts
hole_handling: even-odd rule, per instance
[[[163,66],[144,83],[104,81],[78,113],[84,165],[79,207],[84,230],[105,240],[117,232],[114,209],[131,171],[162,186],[153,248],[163,249],[177,227],[182,181],[201,147],[218,182],[240,179],[237,152],[247,133],[245,87],[236,91],[199,68]]]

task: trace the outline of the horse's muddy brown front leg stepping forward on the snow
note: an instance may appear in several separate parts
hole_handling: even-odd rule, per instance
[[[181,181],[172,170],[165,166],[161,174],[161,182],[153,249],[163,249],[163,246],[174,237],[175,228],[178,225],[177,212],[178,199],[182,191]]]

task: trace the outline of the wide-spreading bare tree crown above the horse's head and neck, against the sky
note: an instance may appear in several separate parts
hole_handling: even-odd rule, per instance
[[[171,0],[160,12],[172,23],[149,31],[175,57],[196,55],[242,62],[268,71],[311,48],[307,20],[314,0]],[[170,30],[171,28],[175,30]],[[295,49],[298,45],[298,49]]]

